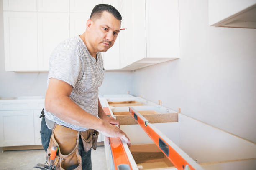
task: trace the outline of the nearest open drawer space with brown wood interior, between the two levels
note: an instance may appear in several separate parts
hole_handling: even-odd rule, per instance
[[[174,167],[172,162],[154,143],[132,145],[129,149],[140,170]]]

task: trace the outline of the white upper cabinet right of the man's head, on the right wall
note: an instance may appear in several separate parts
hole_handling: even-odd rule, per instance
[[[121,69],[179,58],[179,1],[122,1]],[[168,52],[167,52],[168,50]]]

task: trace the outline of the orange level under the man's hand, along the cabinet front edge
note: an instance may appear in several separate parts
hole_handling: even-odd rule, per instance
[[[106,115],[110,116],[110,111],[108,107],[103,107],[104,112]],[[128,156],[125,152],[123,147],[123,143],[120,138],[110,138],[110,148],[113,156],[113,162],[115,165],[115,170],[131,170],[131,164],[128,159]]]

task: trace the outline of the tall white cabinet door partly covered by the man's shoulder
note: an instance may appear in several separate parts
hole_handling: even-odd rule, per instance
[[[68,13],[38,13],[38,69],[49,70],[54,48],[69,38]]]

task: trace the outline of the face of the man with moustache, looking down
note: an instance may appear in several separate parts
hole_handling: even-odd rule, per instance
[[[121,28],[120,20],[116,19],[111,13],[103,11],[101,18],[90,20],[89,42],[93,50],[106,52],[114,45]]]

